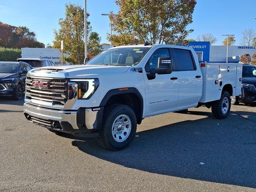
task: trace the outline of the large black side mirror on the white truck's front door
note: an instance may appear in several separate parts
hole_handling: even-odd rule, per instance
[[[158,68],[151,68],[151,74],[171,74],[172,73],[172,58],[159,57]]]

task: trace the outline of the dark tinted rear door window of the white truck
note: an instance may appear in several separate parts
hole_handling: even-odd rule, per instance
[[[176,68],[179,71],[195,70],[194,62],[189,50],[172,49]]]

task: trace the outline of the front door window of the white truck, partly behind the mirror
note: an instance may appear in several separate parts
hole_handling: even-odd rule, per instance
[[[151,68],[158,67],[158,58],[159,57],[170,57],[168,48],[160,48],[152,54],[152,56],[149,58],[146,66],[145,66],[146,72],[149,72],[149,70]]]

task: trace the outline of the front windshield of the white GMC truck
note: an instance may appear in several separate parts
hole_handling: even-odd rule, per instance
[[[136,66],[150,50],[149,47],[114,48],[92,58],[88,65]]]

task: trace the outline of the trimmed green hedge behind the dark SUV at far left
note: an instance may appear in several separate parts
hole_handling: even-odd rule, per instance
[[[21,49],[0,47],[0,61],[16,61],[21,57]]]

